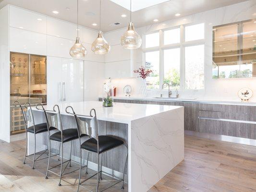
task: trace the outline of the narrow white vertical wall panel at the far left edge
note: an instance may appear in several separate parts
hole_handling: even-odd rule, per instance
[[[10,142],[10,52],[9,52],[9,6],[0,10],[0,139]],[[7,120],[6,120],[7,119]]]

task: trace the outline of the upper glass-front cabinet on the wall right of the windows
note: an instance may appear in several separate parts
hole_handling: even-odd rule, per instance
[[[213,78],[256,77],[256,20],[213,27]]]

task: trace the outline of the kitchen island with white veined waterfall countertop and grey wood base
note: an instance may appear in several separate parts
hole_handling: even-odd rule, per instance
[[[85,101],[59,103],[64,128],[75,128],[72,115],[65,112],[72,106],[77,114],[88,115],[96,109],[99,134],[118,137],[128,144],[128,169],[126,171],[129,192],[146,192],[184,158],[183,107],[114,103],[104,108],[102,102]],[[53,105],[45,106],[52,110]],[[45,121],[42,111],[33,107],[36,123]],[[41,145],[46,147],[47,134],[41,134]],[[29,136],[29,140],[33,137]],[[30,143],[30,142],[29,142]],[[30,145],[30,144],[29,144]],[[66,144],[67,145],[67,144]],[[37,146],[39,146],[37,144]],[[58,150],[58,144],[52,146]],[[29,147],[29,153],[33,147]],[[64,146],[63,156],[68,158],[70,147]],[[79,144],[73,144],[72,159],[79,162]],[[125,148],[118,147],[103,157],[103,171],[121,177],[125,163]],[[85,158],[86,154],[83,155]],[[85,160],[83,161],[86,162]],[[96,170],[96,157],[90,156],[88,168]]]

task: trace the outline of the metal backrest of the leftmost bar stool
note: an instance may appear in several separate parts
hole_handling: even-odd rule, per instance
[[[24,122],[25,122],[25,128],[27,129],[28,127],[33,126],[34,132],[35,132],[35,120],[34,120],[34,115],[32,113],[32,108],[31,108],[30,103],[29,102],[25,103],[24,108],[23,108],[19,101],[14,101],[13,106],[21,108],[22,115],[23,115]]]

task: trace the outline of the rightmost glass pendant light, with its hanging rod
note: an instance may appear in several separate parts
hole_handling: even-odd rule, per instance
[[[123,48],[136,49],[141,46],[141,37],[134,29],[134,23],[132,22],[132,0],[130,0],[130,24],[127,31],[121,36],[120,43]]]

